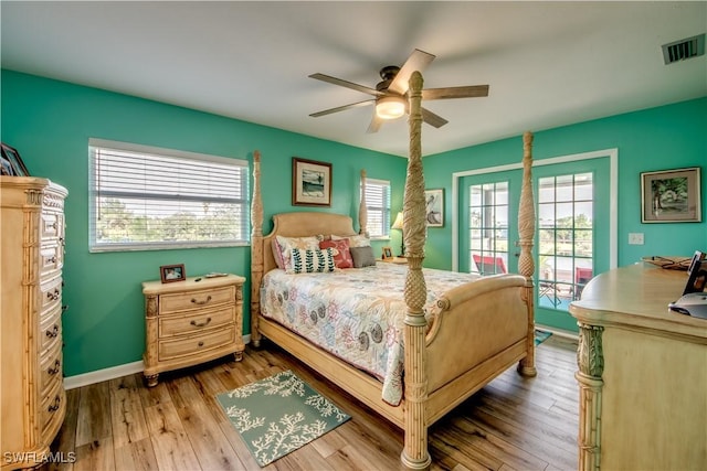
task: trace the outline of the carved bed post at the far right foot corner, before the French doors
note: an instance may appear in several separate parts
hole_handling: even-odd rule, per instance
[[[535,368],[535,309],[534,283],[535,261],[532,260],[532,237],[535,235],[535,201],[532,197],[532,133],[523,135],[523,188],[520,190],[520,207],[518,210],[518,271],[526,277],[524,300],[528,307],[528,335],[526,351],[528,354],[518,363],[518,372],[524,376],[536,376]]]

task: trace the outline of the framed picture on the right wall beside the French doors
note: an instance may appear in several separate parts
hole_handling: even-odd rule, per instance
[[[699,167],[641,173],[642,223],[699,223]]]

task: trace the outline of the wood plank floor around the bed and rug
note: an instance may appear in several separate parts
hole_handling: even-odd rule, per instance
[[[536,378],[511,368],[431,428],[433,470],[577,469],[577,343],[553,335],[536,351]],[[352,419],[265,470],[401,469],[400,429],[267,343],[241,363],[165,373],[154,388],[136,374],[68,390],[52,451],[76,460],[43,468],[260,470],[215,395],[287,368]]]

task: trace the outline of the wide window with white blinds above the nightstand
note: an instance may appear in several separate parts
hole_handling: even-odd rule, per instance
[[[91,251],[247,243],[247,161],[89,139]]]

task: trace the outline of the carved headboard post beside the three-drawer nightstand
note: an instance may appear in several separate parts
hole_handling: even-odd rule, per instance
[[[251,341],[261,345],[257,323],[261,313],[261,280],[263,279],[263,200],[261,197],[261,152],[253,152],[253,200],[251,202]]]

